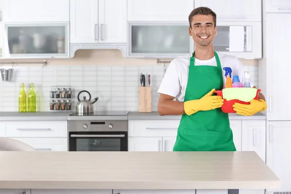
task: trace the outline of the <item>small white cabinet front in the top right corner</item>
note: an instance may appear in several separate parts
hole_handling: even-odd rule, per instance
[[[265,0],[267,13],[291,13],[291,0]]]

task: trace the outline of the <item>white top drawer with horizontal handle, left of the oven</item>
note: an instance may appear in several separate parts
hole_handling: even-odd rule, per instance
[[[5,121],[6,137],[67,137],[67,121]]]

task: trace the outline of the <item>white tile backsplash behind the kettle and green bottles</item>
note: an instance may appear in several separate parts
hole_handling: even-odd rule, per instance
[[[258,85],[258,66],[245,66]],[[72,110],[81,90],[91,93],[95,111],[138,111],[140,73],[151,74],[152,111],[157,111],[157,93],[164,75],[163,65],[19,65],[12,81],[0,81],[0,111],[18,111],[18,94],[23,82],[28,95],[33,82],[39,111],[49,111],[51,86],[72,87]],[[147,80],[147,79],[146,79]]]

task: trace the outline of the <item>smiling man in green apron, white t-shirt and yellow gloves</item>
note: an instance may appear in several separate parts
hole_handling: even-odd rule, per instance
[[[182,114],[173,151],[236,151],[227,113],[220,107],[224,99],[212,96],[214,90],[224,88],[222,68],[229,66],[232,75],[244,81],[244,67],[231,55],[216,53],[216,14],[207,7],[198,7],[189,15],[189,35],[195,51],[174,59],[162,80],[158,112],[160,115]],[[251,83],[251,87],[255,87]],[[174,100],[174,99],[177,100]],[[267,108],[264,96],[249,105],[235,103],[237,114],[253,115]],[[229,190],[237,194],[238,190]]]

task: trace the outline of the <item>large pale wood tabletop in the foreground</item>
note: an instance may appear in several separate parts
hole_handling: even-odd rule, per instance
[[[276,189],[256,152],[0,152],[0,189]]]

